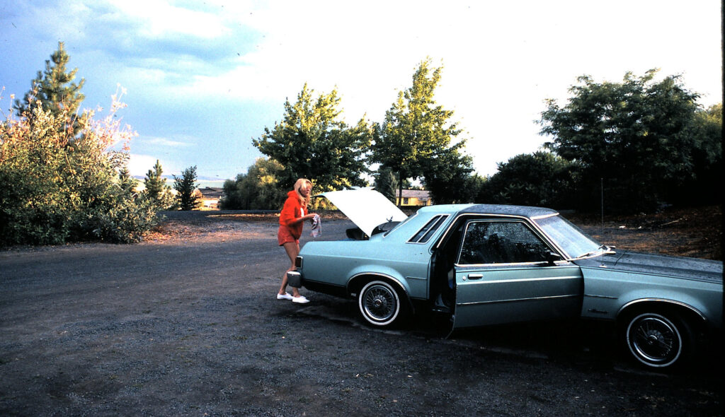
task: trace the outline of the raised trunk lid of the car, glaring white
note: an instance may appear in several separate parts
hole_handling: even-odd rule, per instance
[[[320,196],[331,201],[368,236],[373,235],[376,226],[387,222],[402,222],[407,218],[405,213],[384,195],[370,188],[328,191],[315,195],[315,197]]]

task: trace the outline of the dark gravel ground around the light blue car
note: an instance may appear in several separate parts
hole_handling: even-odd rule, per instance
[[[663,374],[589,322],[370,329],[352,300],[274,298],[275,214],[167,217],[138,245],[0,251],[1,416],[723,413],[719,350]],[[568,218],[618,248],[721,259],[719,208]],[[323,219],[323,239],[351,226]]]

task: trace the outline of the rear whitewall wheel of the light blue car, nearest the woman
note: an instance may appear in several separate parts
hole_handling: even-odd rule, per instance
[[[401,316],[400,297],[385,281],[370,281],[357,295],[357,306],[365,321],[378,327],[388,327]]]

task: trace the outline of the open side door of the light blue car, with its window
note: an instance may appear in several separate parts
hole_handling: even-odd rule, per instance
[[[519,219],[475,219],[463,229],[455,264],[453,327],[577,317],[579,266]]]

